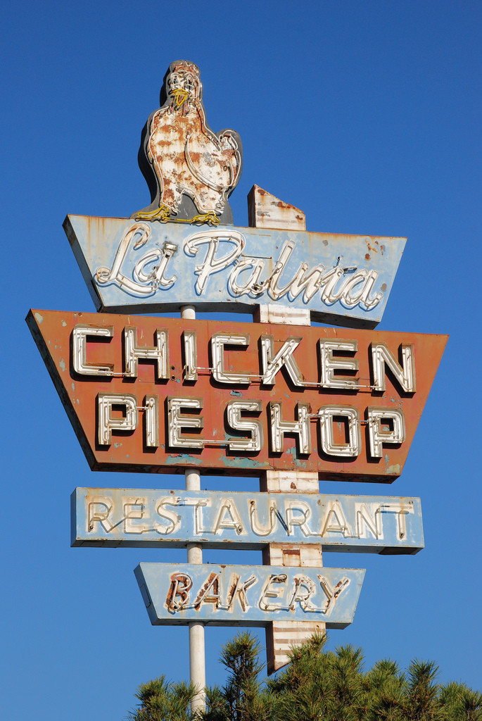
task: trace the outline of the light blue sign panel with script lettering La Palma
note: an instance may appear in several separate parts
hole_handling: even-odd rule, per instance
[[[67,216],[64,229],[99,311],[275,305],[375,327],[404,238]]]

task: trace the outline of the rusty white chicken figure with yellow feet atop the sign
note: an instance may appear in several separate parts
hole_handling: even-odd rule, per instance
[[[233,224],[228,197],[241,177],[241,138],[231,130],[213,133],[207,125],[194,63],[171,63],[160,104],[143,129],[139,149],[152,202],[132,217]]]

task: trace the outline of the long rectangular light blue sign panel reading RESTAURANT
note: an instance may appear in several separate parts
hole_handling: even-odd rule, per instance
[[[71,544],[90,547],[262,549],[414,554],[424,547],[419,498],[76,488]]]

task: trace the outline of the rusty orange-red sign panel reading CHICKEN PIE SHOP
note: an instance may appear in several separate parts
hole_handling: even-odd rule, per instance
[[[94,470],[398,477],[447,336],[30,311]]]

